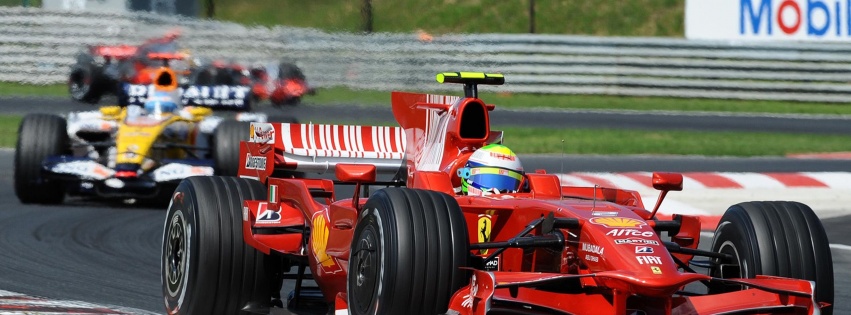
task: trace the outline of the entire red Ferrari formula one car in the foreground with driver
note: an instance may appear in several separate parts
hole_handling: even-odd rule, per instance
[[[733,205],[698,249],[697,217],[655,216],[682,175],[654,173],[648,208],[634,191],[524,172],[477,96],[503,76],[438,81],[465,96],[394,92],[400,127],[254,123],[239,178],[184,180],[163,237],[168,313],[269,312],[285,278],[305,292],[304,266],[335,314],[832,312],[831,253],[808,206]]]

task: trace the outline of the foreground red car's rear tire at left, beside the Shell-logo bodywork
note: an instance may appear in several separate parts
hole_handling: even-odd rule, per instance
[[[242,314],[268,309],[265,256],[245,244],[242,201],[265,200],[258,181],[183,180],[168,207],[161,277],[168,314]]]

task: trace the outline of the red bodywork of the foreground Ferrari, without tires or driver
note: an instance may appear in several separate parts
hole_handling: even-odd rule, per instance
[[[402,92],[393,92],[392,106],[401,127],[254,123],[249,141],[241,143],[239,175],[264,182],[270,196],[245,202],[245,242],[267,254],[307,256],[326,300],[338,309],[346,307],[349,248],[359,206],[366,198],[338,199],[330,179],[271,177],[276,169],[334,172],[338,180],[369,184],[376,173],[394,174],[404,163],[408,187],[456,196],[472,244],[507,241],[550,214],[579,222],[578,227],[556,229],[564,236],[562,250],[508,248],[493,269],[472,272],[469,285],[457,291],[449,305],[459,314],[486,314],[494,301],[573,314],[818,310],[813,285],[805,280],[714,279],[748,289],[679,294],[688,284],[712,278],[678,267],[675,259],[688,262],[692,256],[670,253],[657,228],[678,221],[670,242],[694,249],[700,221],[686,215],[656,220],[658,204],[646,209],[634,191],[561,186],[558,176],[539,171],[526,174],[528,190],[521,193],[457,195],[454,187],[460,182],[453,176],[457,168],[476,148],[501,140],[501,132],[490,130],[488,112],[494,106],[475,97]],[[653,183],[663,193],[679,190],[682,176],[656,173]],[[280,216],[270,216],[270,211]],[[270,217],[279,219],[266,219]],[[306,242],[302,234],[258,233],[304,227],[311,231]],[[471,253],[484,257],[493,251]],[[575,289],[554,291],[545,289],[548,286]]]

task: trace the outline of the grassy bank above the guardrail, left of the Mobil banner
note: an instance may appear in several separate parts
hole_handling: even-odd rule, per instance
[[[535,32],[600,36],[683,36],[682,0],[537,0]],[[202,1],[201,12],[206,12]],[[327,31],[364,30],[364,1],[216,0],[220,20]],[[373,31],[528,33],[529,0],[372,0]]]

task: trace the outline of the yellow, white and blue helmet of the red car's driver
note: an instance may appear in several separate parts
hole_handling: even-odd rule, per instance
[[[461,192],[487,196],[517,192],[523,178],[523,165],[508,147],[489,144],[474,152],[467,164],[458,169]]]

